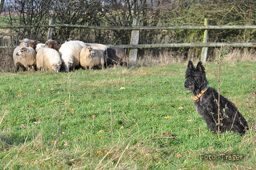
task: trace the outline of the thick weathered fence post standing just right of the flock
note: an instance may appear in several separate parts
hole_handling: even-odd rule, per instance
[[[139,19],[133,19],[133,26],[139,26]],[[131,31],[131,43],[137,45],[139,43],[139,30]],[[136,66],[137,63],[137,53],[138,48],[130,49],[129,50],[129,64],[128,68]]]

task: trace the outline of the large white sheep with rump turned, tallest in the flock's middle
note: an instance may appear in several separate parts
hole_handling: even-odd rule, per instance
[[[59,48],[59,54],[66,72],[69,72],[69,68],[75,71],[75,67],[80,65],[80,52],[85,46],[86,44],[82,41],[69,41],[63,43]]]

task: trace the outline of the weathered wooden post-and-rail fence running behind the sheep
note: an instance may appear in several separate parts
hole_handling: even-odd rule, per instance
[[[129,59],[130,66],[134,66],[137,60],[137,49],[138,48],[171,48],[171,47],[255,47],[256,43],[209,43],[207,42],[207,30],[224,30],[224,29],[256,29],[256,25],[235,25],[235,26],[213,26],[208,25],[207,20],[205,22],[205,26],[139,26],[139,20],[134,19],[133,26],[131,27],[107,27],[107,26],[83,26],[83,25],[34,25],[34,26],[0,26],[0,29],[18,29],[18,28],[29,28],[29,27],[49,27],[49,29],[53,29],[54,27],[73,27],[80,29],[94,29],[94,30],[132,30],[131,31],[131,43],[130,44],[122,44],[122,45],[114,45],[107,44],[108,47],[122,47],[128,48],[129,51]],[[169,43],[169,44],[138,44],[139,39],[139,30],[205,30],[204,32],[204,42],[202,43]],[[52,31],[49,31],[51,33]],[[51,37],[49,35],[48,37]],[[0,46],[0,48],[15,48],[17,46]],[[204,51],[204,50],[202,50]],[[206,60],[206,52],[202,52],[201,60]]]

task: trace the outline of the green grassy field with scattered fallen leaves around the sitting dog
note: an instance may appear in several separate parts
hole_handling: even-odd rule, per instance
[[[222,92],[244,136],[207,130],[183,87],[187,63],[0,73],[1,169],[256,169],[256,62],[224,62]],[[218,87],[217,63],[206,63]]]

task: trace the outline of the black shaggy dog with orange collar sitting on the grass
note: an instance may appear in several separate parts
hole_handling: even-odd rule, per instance
[[[194,67],[193,62],[189,61],[185,78],[185,88],[194,94],[195,109],[206,120],[207,127],[218,132],[218,92],[207,86],[205,67],[202,62],[198,62],[197,67]],[[243,135],[248,126],[237,107],[222,95],[219,103],[220,131],[234,131]]]

